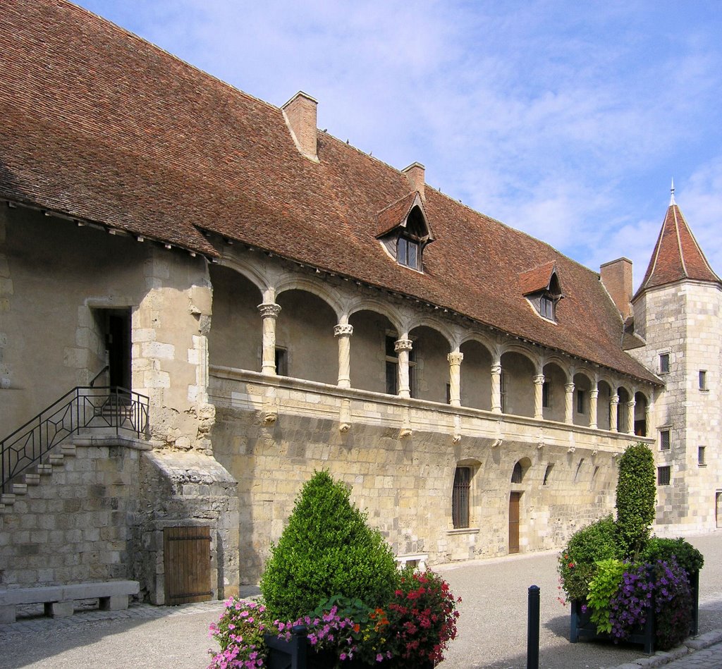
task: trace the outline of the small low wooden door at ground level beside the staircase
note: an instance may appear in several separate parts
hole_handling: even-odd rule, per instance
[[[206,602],[211,590],[211,528],[163,530],[165,603]]]

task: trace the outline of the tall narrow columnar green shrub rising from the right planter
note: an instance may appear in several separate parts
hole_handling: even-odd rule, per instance
[[[636,560],[651,533],[656,498],[654,456],[642,444],[628,446],[619,459],[617,538],[622,557]]]

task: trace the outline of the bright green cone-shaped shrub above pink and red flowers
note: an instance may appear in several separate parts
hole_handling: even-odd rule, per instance
[[[399,572],[390,546],[327,471],[314,473],[296,498],[261,577],[266,606],[295,620],[333,595],[375,608],[393,598]]]

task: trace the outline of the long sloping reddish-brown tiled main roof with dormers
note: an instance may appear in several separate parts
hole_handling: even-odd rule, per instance
[[[402,172],[320,131],[306,159],[279,108],[84,9],[6,0],[0,72],[0,197],[209,257],[216,232],[656,382],[598,274],[428,186],[425,271],[397,265],[375,237]],[[564,279],[557,324],[513,279],[544,263]]]

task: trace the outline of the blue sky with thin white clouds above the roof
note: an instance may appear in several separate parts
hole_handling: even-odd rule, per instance
[[[79,4],[635,286],[674,178],[722,273],[719,0]]]

